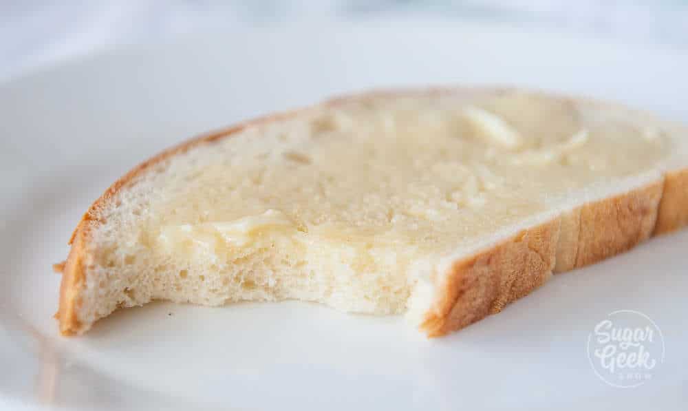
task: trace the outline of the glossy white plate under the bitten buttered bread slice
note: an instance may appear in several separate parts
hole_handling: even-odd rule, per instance
[[[396,317],[315,304],[122,310],[57,333],[80,213],[137,162],[247,116],[372,86],[516,83],[688,119],[688,53],[477,25],[213,33],[93,56],[0,88],[0,405],[69,408],[680,409],[688,402],[688,232],[559,275],[502,314],[426,341]],[[633,389],[599,379],[595,324],[638,310],[666,355]],[[653,352],[656,356],[657,353]]]

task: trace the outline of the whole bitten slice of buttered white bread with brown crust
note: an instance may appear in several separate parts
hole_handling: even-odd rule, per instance
[[[339,98],[202,136],[85,213],[56,317],[302,299],[429,336],[688,222],[688,131],[515,89]]]

